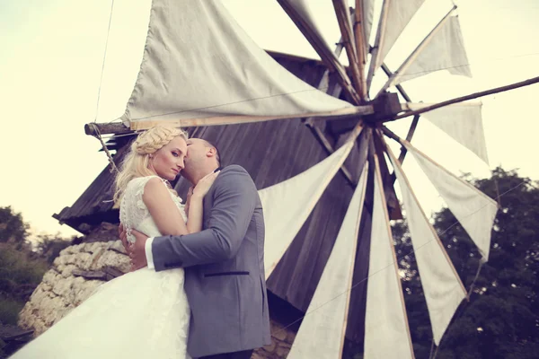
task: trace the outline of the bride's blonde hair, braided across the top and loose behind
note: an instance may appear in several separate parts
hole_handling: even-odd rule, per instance
[[[147,129],[137,136],[131,144],[131,149],[121,163],[121,168],[115,180],[114,203],[119,206],[121,197],[128,187],[130,180],[138,177],[153,176],[155,172],[149,169],[150,155],[159,151],[173,138],[181,136],[187,141],[188,135],[178,127],[157,125]]]

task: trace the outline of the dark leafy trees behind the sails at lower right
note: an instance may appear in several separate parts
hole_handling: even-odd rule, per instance
[[[499,195],[489,261],[482,266],[470,302],[463,302],[437,352],[448,358],[535,358],[539,349],[539,188],[516,171],[497,168],[490,179],[471,180],[488,196]],[[440,240],[467,289],[481,258],[473,241],[448,210],[434,216]],[[417,358],[429,358],[431,329],[420,274],[403,223],[393,226],[397,257]]]

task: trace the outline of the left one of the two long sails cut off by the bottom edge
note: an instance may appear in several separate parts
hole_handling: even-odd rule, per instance
[[[288,359],[341,357],[367,169],[366,165]]]

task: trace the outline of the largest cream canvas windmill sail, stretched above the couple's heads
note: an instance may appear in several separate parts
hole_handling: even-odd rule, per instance
[[[161,121],[181,125],[185,118],[349,107],[278,65],[219,1],[155,0],[137,83],[121,119],[144,129]]]

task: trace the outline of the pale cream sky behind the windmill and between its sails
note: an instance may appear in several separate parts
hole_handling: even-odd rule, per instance
[[[224,0],[236,20],[261,48],[318,58],[274,0]],[[329,42],[339,39],[330,0],[311,0]],[[99,142],[84,135],[96,118],[97,95],[110,17],[110,0],[0,1],[0,98],[4,127],[0,206],[22,212],[35,232],[75,233],[52,214],[71,206],[107,163]],[[103,73],[98,122],[119,118],[137,78],[147,30],[149,1],[115,0]],[[473,79],[430,74],[403,83],[413,101],[446,99],[526,80],[539,74],[539,2],[466,0],[457,3]],[[394,70],[450,8],[427,0],[387,57]],[[374,31],[373,31],[374,32]],[[374,34],[373,34],[374,36]],[[380,78],[380,76],[378,76]],[[534,109],[539,84],[482,98],[490,167],[426,120],[412,141],[455,173],[488,176],[501,164],[539,179]],[[401,120],[392,128],[405,136]],[[440,199],[407,159],[408,173],[429,213]]]

